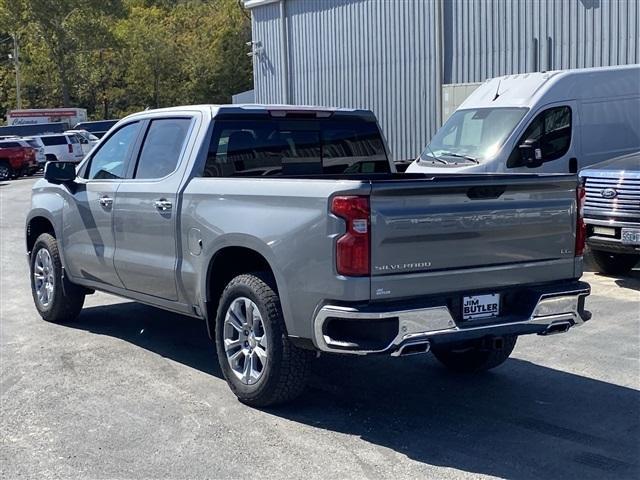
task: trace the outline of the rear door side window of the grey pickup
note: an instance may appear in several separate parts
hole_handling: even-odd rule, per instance
[[[188,118],[153,120],[142,145],[135,178],[162,178],[173,172],[190,124]]]

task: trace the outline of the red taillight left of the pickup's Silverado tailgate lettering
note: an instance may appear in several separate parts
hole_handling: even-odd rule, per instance
[[[369,197],[340,196],[331,200],[331,213],[344,219],[347,231],[336,242],[336,269],[340,275],[369,275]]]

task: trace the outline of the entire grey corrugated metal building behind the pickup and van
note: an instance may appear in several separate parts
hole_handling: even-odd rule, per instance
[[[438,128],[450,84],[640,63],[638,0],[245,0],[245,7],[255,101],[371,109],[396,160],[415,158]]]

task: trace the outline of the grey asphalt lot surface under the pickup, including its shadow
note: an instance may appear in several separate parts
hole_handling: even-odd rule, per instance
[[[257,410],[227,388],[203,322],[101,293],[72,324],[40,319],[33,182],[0,183],[2,478],[640,477],[637,268],[587,272],[593,319],[521,337],[490,373],[323,356],[302,398]]]

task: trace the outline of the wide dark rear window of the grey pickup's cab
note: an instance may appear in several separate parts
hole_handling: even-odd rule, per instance
[[[375,122],[350,120],[219,120],[206,177],[389,172]]]

